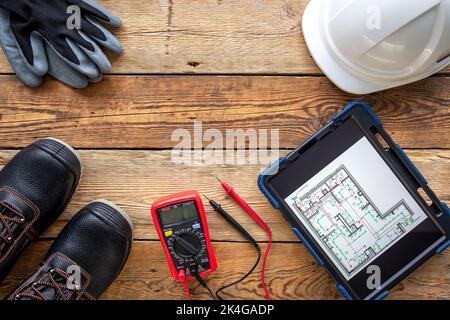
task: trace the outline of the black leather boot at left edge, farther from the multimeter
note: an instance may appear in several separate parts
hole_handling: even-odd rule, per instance
[[[47,138],[20,151],[0,172],[0,282],[23,250],[72,199],[81,176],[78,153]]]

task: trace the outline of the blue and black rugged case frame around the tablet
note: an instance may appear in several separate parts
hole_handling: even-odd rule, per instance
[[[410,186],[414,190],[418,190],[422,188],[424,192],[428,195],[429,199],[432,201],[431,205],[426,204],[425,200],[422,198],[423,204],[428,207],[429,212],[433,214],[436,222],[441,226],[441,228],[445,231],[446,238],[436,247],[434,251],[431,251],[427,255],[425,255],[422,259],[420,259],[413,266],[405,270],[404,273],[398,276],[396,281],[393,281],[389,284],[383,291],[379,292],[374,299],[382,300],[389,295],[389,290],[392,289],[396,284],[398,284],[401,280],[403,280],[407,275],[409,275],[413,270],[422,265],[426,260],[428,260],[434,254],[439,254],[443,252],[447,247],[450,246],[450,210],[448,206],[441,202],[435,193],[428,187],[428,182],[425,177],[420,173],[417,167],[413,164],[411,159],[406,155],[403,149],[394,143],[389,134],[384,130],[383,123],[378,118],[378,116],[374,113],[372,108],[365,102],[356,100],[350,102],[345,106],[344,110],[342,110],[339,114],[337,114],[324,128],[322,128],[315,135],[306,140],[300,147],[292,151],[286,157],[280,158],[277,162],[273,163],[271,166],[266,168],[261,175],[258,177],[258,186],[261,192],[266,196],[269,202],[275,209],[278,209],[283,214],[284,218],[288,220],[288,222],[292,226],[292,230],[296,234],[296,236],[303,242],[305,247],[311,252],[317,263],[327,269],[330,272],[330,267],[325,262],[321,254],[320,250],[317,250],[312,237],[306,233],[306,230],[301,226],[298,219],[294,218],[294,215],[287,209],[287,207],[283,204],[282,199],[277,199],[277,196],[271,193],[268,182],[272,177],[274,177],[277,172],[280,172],[287,167],[289,167],[290,162],[294,161],[296,158],[301,156],[302,153],[306,152],[307,149],[311,147],[311,145],[317,143],[324,136],[333,131],[336,126],[339,126],[342,122],[347,120],[349,117],[352,117],[354,120],[358,122],[361,129],[364,131],[367,138],[372,140],[377,139],[376,135],[379,134],[385,142],[388,144],[389,148],[386,149],[386,154],[391,162],[395,164],[397,170],[399,170],[402,175],[407,177],[407,181],[409,181]],[[377,139],[378,140],[378,139]],[[384,147],[378,142],[379,148]],[[421,197],[420,197],[421,198]],[[303,231],[304,230],[304,231]],[[333,274],[331,274],[333,276]],[[357,296],[352,295],[350,286],[346,283],[345,279],[340,276],[334,275],[333,278],[337,281],[336,287],[338,291],[348,300],[358,299]],[[339,278],[341,278],[339,280]]]

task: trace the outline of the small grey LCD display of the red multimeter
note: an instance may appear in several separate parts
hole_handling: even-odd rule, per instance
[[[195,201],[192,200],[158,209],[158,215],[161,224],[164,227],[167,227],[196,219],[198,218],[199,213]]]

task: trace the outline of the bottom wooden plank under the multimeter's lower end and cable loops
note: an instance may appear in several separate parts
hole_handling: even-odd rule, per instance
[[[0,286],[0,297],[11,292],[41,261],[50,241],[33,244]],[[206,277],[211,288],[238,278],[256,260],[245,243],[214,243],[219,267]],[[264,247],[264,246],[263,246]],[[280,257],[284,257],[280,259]],[[287,258],[289,257],[289,258]],[[259,269],[242,284],[228,289],[226,299],[264,299]],[[276,243],[267,267],[267,283],[273,299],[342,299],[335,282],[301,244]],[[450,299],[450,252],[431,258],[391,291],[389,299]],[[209,299],[205,290],[190,281],[194,299]],[[123,272],[102,299],[183,299],[183,287],[173,281],[162,247],[157,242],[135,242]]]

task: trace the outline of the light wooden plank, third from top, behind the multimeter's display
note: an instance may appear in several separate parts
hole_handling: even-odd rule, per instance
[[[15,153],[16,151],[0,151],[0,167]],[[450,150],[415,150],[408,153],[440,199],[450,202]],[[158,236],[150,216],[152,202],[180,190],[196,189],[222,203],[258,240],[267,240],[265,233],[251,218],[226,197],[215,179],[218,176],[232,184],[267,221],[275,241],[298,241],[281,214],[270,206],[258,190],[256,178],[261,169],[258,165],[176,165],[172,163],[170,151],[83,150],[81,157],[84,175],[77,193],[66,212],[45,233],[45,237],[55,237],[80,208],[92,200],[104,198],[116,202],[128,212],[135,224],[136,239],[156,240]],[[242,157],[236,155],[236,159]],[[214,240],[242,240],[208,205],[205,208]]]

